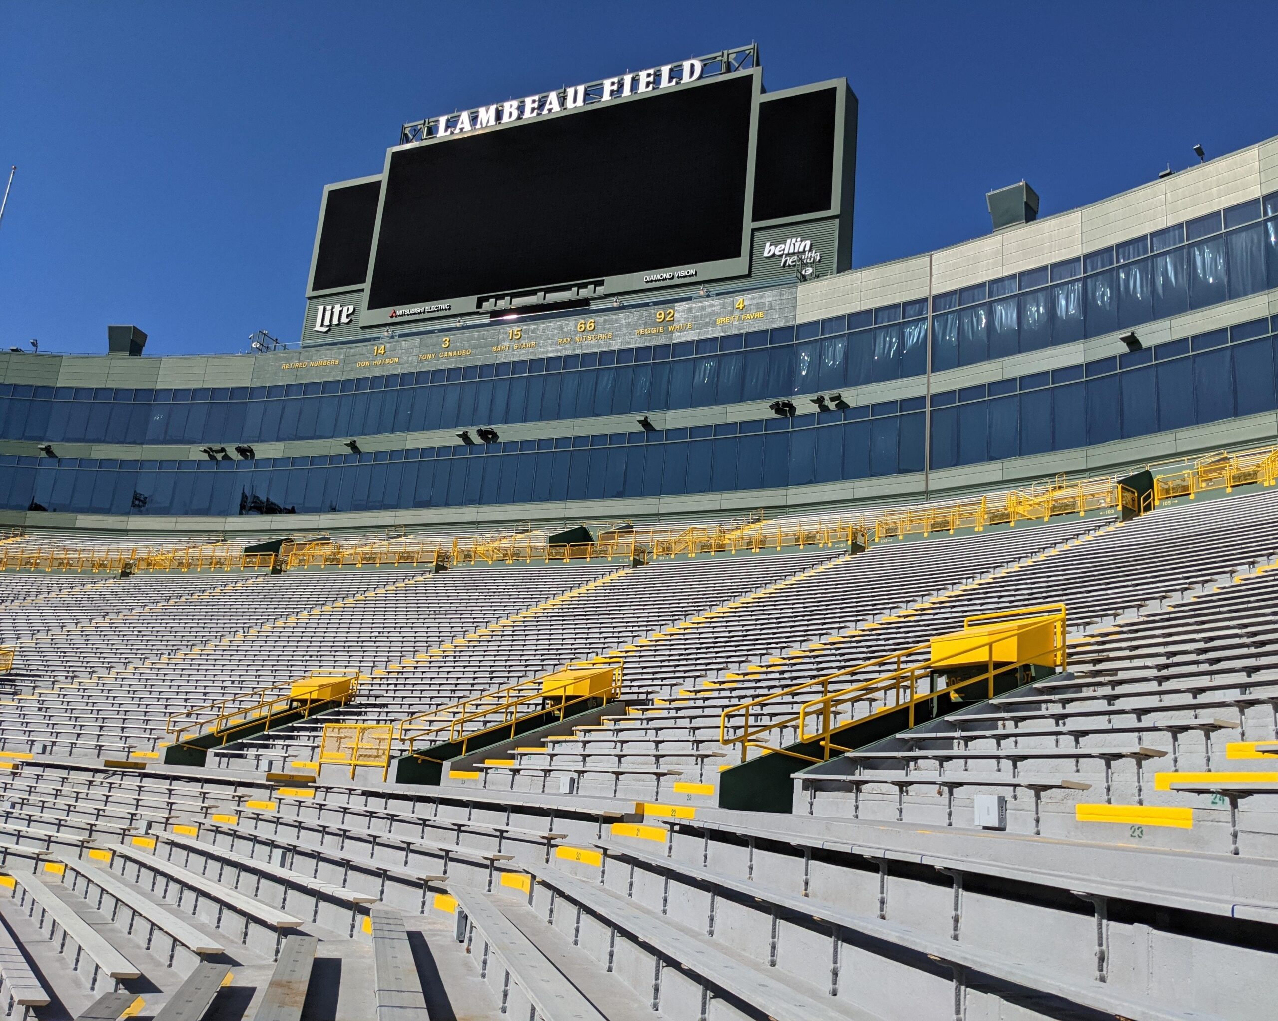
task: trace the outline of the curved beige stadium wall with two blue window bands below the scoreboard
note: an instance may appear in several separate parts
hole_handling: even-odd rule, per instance
[[[381,354],[376,354],[376,347],[367,341],[311,347],[302,355],[291,351],[188,357],[3,354],[0,519],[6,523],[74,523],[146,531],[204,527],[219,531],[286,531],[431,521],[478,523],[674,514],[852,500],[896,502],[916,499],[925,490],[933,495],[960,493],[1061,471],[1113,468],[1224,445],[1265,442],[1278,435],[1278,408],[1274,407],[1278,401],[1273,397],[1273,343],[1278,337],[1278,319],[1272,319],[1278,317],[1278,216],[1266,216],[1278,214],[1274,191],[1278,191],[1278,139],[1180,171],[1082,209],[935,253],[838,273],[810,283],[681,300],[672,306],[671,317],[677,332],[670,333],[666,332],[667,324],[662,323],[667,309],[652,304],[597,313],[598,322],[590,322],[588,329],[585,322],[575,322],[581,318],[580,313],[567,318],[528,320],[521,328],[529,339],[511,339],[509,343],[504,334],[509,336],[511,327],[505,323],[478,331],[454,331],[451,334],[442,329],[406,332],[386,338]],[[1102,258],[1098,253],[1104,251],[1108,255]],[[1164,254],[1160,255],[1160,251]],[[1105,263],[1105,259],[1109,262]],[[1215,269],[1213,259],[1219,263]],[[1157,288],[1167,282],[1168,267],[1180,267],[1180,272],[1189,273],[1187,283],[1173,281],[1178,291],[1167,291],[1169,301],[1183,301],[1186,308],[1163,318],[1150,318],[1159,308],[1154,302],[1163,291]],[[987,286],[987,281],[993,283]],[[1102,294],[1104,287],[1117,288],[1117,296],[1105,299]],[[1153,291],[1153,296],[1141,288]],[[1049,308],[1053,301],[1057,304]],[[1082,302],[1076,315],[1067,308],[1070,301]],[[1118,315],[1125,308],[1128,310],[1126,322]],[[1005,343],[998,348],[994,342],[999,329],[998,317],[1003,314],[1006,319],[1007,309],[1012,309],[1012,328],[1007,334],[1012,337],[1012,347]],[[1047,346],[1038,346],[1033,314],[1054,315],[1059,310],[1063,311],[1051,327],[1056,331],[1053,339]],[[1093,311],[1097,313],[1095,323]],[[1105,317],[1112,311],[1113,329],[1093,329],[1095,324],[1108,325]],[[662,313],[659,318],[658,313]],[[1019,322],[1015,320],[1017,314],[1021,317]],[[658,324],[662,329],[657,328]],[[1137,332],[1145,355],[1136,352],[1128,356],[1120,342],[1118,337],[1131,328]],[[888,370],[875,375],[877,355],[873,354],[868,354],[865,365],[856,370],[860,375],[849,368],[851,352],[861,339],[865,345],[878,343],[882,348],[886,343],[883,337],[893,331],[895,360],[884,362],[889,365]],[[978,339],[973,339],[978,333]],[[390,428],[386,429],[368,429],[369,420],[363,419],[360,425],[366,428],[357,430],[348,425],[345,431],[330,429],[331,435],[317,435],[316,428],[312,428],[311,438],[296,438],[304,435],[304,430],[299,433],[296,429],[293,433],[277,430],[280,436],[288,438],[270,438],[263,431],[265,426],[259,426],[252,436],[244,430],[254,414],[254,402],[276,402],[279,407],[286,407],[294,399],[294,389],[298,391],[295,399],[299,406],[312,396],[314,403],[322,399],[320,393],[312,394],[312,391],[323,391],[325,396],[332,391],[335,403],[341,399],[368,401],[376,391],[366,383],[380,373],[390,371],[401,393],[404,385],[413,385],[410,397],[419,399],[423,407],[433,407],[446,405],[451,399],[449,394],[464,387],[470,378],[474,387],[486,379],[493,379],[495,385],[500,385],[502,376],[498,374],[504,371],[500,366],[509,373],[511,364],[525,366],[518,371],[527,371],[530,364],[553,364],[553,373],[548,368],[543,370],[546,379],[553,374],[566,379],[570,371],[580,374],[581,379],[588,371],[615,375],[621,369],[619,362],[636,348],[658,352],[649,355],[654,362],[658,357],[670,360],[674,379],[684,364],[680,361],[684,359],[681,347],[686,347],[689,371],[698,364],[709,366],[716,359],[726,366],[734,359],[743,362],[758,355],[743,346],[743,336],[745,345],[767,348],[773,365],[787,366],[789,385],[767,391],[757,399],[723,401],[716,399],[718,391],[712,388],[707,391],[709,397],[699,405],[686,397],[676,399],[671,391],[671,399],[666,403],[674,406],[654,406],[643,411],[657,430],[670,430],[658,438],[659,443],[695,440],[702,433],[708,439],[740,436],[740,452],[734,457],[744,462],[748,457],[748,431],[763,433],[767,428],[772,436],[773,428],[790,431],[813,428],[814,439],[803,444],[790,440],[797,451],[799,447],[806,449],[813,444],[826,444],[824,438],[835,436],[836,431],[822,431],[823,428],[836,425],[851,445],[854,440],[860,443],[859,438],[869,436],[870,429],[878,429],[877,421],[882,419],[886,422],[895,416],[893,435],[904,436],[909,431],[911,444],[925,444],[929,470],[921,471],[921,451],[911,447],[907,456],[905,440],[901,440],[900,452],[891,461],[891,472],[870,473],[854,467],[854,477],[829,481],[799,468],[801,484],[750,485],[699,493],[659,491],[651,495],[629,493],[611,499],[507,499],[475,504],[463,498],[451,505],[298,513],[284,519],[257,513],[240,516],[230,511],[227,516],[169,514],[160,512],[158,507],[148,509],[146,505],[129,508],[133,513],[93,513],[109,507],[110,498],[104,504],[101,494],[96,503],[93,498],[77,494],[61,500],[59,507],[58,500],[45,504],[36,499],[36,490],[32,489],[28,503],[22,499],[26,490],[15,481],[27,479],[35,470],[45,480],[41,493],[47,495],[54,491],[49,488],[50,480],[60,471],[79,472],[79,476],[98,472],[95,479],[110,471],[178,471],[183,465],[193,468],[192,462],[207,461],[201,453],[203,447],[225,445],[231,449],[242,443],[253,445],[258,466],[248,466],[252,471],[235,468],[236,481],[247,481],[259,470],[272,470],[271,462],[279,458],[289,458],[290,467],[298,465],[295,458],[308,458],[308,465],[316,463],[316,458],[325,458],[322,471],[334,472],[339,458],[354,458],[351,465],[359,462],[359,456],[346,448],[349,439],[357,439],[360,452],[369,459],[377,457],[382,461],[395,456],[390,452],[404,451],[423,451],[420,456],[424,458],[424,451],[436,448],[442,458],[447,456],[443,451],[458,443],[459,428],[474,433],[475,428],[484,425],[497,428],[501,442],[510,445],[504,453],[516,457],[520,452],[515,444],[535,448],[538,440],[544,444],[558,439],[569,451],[589,447],[583,438],[630,434],[629,443],[634,445],[636,411],[603,414],[616,405],[601,406],[598,402],[583,408],[583,414],[556,415],[555,407],[551,407],[548,415],[521,412],[525,419],[521,421],[504,421],[486,415],[473,421],[458,419],[451,425],[441,422],[441,428],[435,429],[399,428],[428,424],[420,416],[410,420],[404,412],[405,417],[400,421],[387,420]],[[911,336],[915,338],[912,348]],[[927,337],[930,337],[930,343],[923,341],[920,347],[919,338]],[[443,342],[445,338],[449,343]],[[661,354],[663,347],[665,354]],[[824,376],[810,368],[819,362],[823,352],[833,366],[835,375],[831,378],[837,387],[822,385]],[[833,357],[831,352],[835,352]],[[515,361],[516,355],[525,357]],[[529,361],[534,356],[535,361]],[[907,364],[909,359],[915,361]],[[924,364],[928,360],[930,366]],[[606,365],[615,369],[606,370]],[[405,375],[404,369],[409,366],[417,370],[415,376]],[[918,371],[919,366],[921,371]],[[1255,380],[1264,375],[1258,366],[1268,366],[1264,394],[1254,392]],[[1197,411],[1191,412],[1189,419],[1177,419],[1178,412],[1172,405],[1180,391],[1172,391],[1171,384],[1158,375],[1164,369],[1167,380],[1173,376],[1191,379],[1186,393],[1190,405],[1196,402]],[[896,378],[884,378],[893,371]],[[1056,375],[1043,376],[1042,383],[1035,382],[1045,373]],[[1229,379],[1224,380],[1222,374]],[[454,375],[465,378],[454,379]],[[621,378],[630,379],[617,375],[617,379]],[[1102,378],[1111,379],[1112,385]],[[1132,387],[1128,388],[1128,383]],[[357,391],[357,387],[360,389]],[[1021,448],[1038,443],[1030,443],[1030,412],[1026,411],[1033,403],[1035,387],[1042,387],[1042,393],[1051,391],[1054,394],[1052,399],[1057,411],[1048,414],[1058,416],[1053,426],[1056,434],[1065,430],[1072,435],[1077,431],[1071,424],[1070,408],[1088,419],[1080,426],[1084,431],[1077,433],[1081,443],[1056,449],[1042,449],[1039,443],[1038,449],[1026,456]],[[1229,391],[1228,394],[1222,396],[1222,387]],[[235,388],[244,388],[239,403],[235,403]],[[835,412],[833,419],[808,421],[804,412],[813,407],[809,398],[818,393],[829,396],[836,388],[849,406],[842,417]],[[230,398],[225,407],[234,407],[235,411],[222,412],[219,419],[222,425],[216,429],[192,426],[190,434],[174,430],[174,415],[162,426],[169,431],[162,434],[160,442],[152,442],[155,421],[162,420],[169,408],[175,407],[167,403],[174,397],[167,392],[184,389],[194,394],[208,389],[202,399],[207,398],[207,408],[213,411],[217,399]],[[219,397],[222,389],[226,393]],[[369,396],[360,398],[359,394],[366,391]],[[1086,398],[1085,392],[1090,394]],[[349,394],[349,398],[343,394]],[[739,391],[734,394],[745,396]],[[1157,415],[1146,419],[1144,405],[1150,401],[1157,403],[1160,397],[1168,405],[1168,414],[1162,419]],[[778,398],[791,399],[797,406],[799,417],[794,422],[773,421],[769,405]],[[1104,410],[1111,398],[1122,405],[1122,415],[1132,415],[1141,422],[1128,429],[1126,419],[1114,412],[1114,422],[1111,424]],[[181,399],[189,401],[190,397]],[[1015,447],[1008,449],[1015,449],[1019,456],[998,456],[1006,447],[1006,438],[996,443],[990,416],[1002,414],[996,408],[999,401],[1005,406],[1008,401],[1020,402],[1020,411],[1008,419],[1013,422],[1008,428],[1016,431]],[[979,415],[974,411],[964,417],[967,414],[965,408],[975,410],[978,405],[983,408]],[[210,419],[204,419],[202,411],[199,421],[212,421],[213,411],[208,412]],[[185,422],[187,416],[181,417]],[[960,434],[978,417],[984,422],[980,442],[985,444],[985,453],[973,459],[970,451],[964,453]],[[859,424],[863,420],[864,425]],[[82,424],[75,426],[75,421]],[[927,429],[923,428],[924,421]],[[201,433],[201,429],[206,431]],[[682,430],[697,431],[689,434]],[[969,431],[976,435],[975,430]],[[167,442],[171,435],[179,436],[179,440]],[[1105,442],[1093,443],[1093,436],[1103,436]],[[105,442],[107,439],[124,442]],[[56,457],[43,456],[38,449],[41,443],[51,445]],[[722,449],[737,451],[736,447]],[[418,457],[415,453],[410,456],[414,459]],[[137,465],[130,468],[129,462],[156,462],[156,466],[169,467],[139,470]],[[215,473],[229,470],[226,466],[215,467]],[[846,475],[846,462],[843,471]],[[185,484],[184,480],[194,484],[196,479],[207,473],[203,470],[190,475],[178,471],[175,479],[178,484]],[[826,475],[829,476],[829,472]],[[5,476],[10,480],[8,485]],[[736,475],[732,477],[736,479]],[[796,470],[791,465],[789,479],[794,477]],[[72,490],[66,486],[64,490],[70,496]],[[115,504],[110,505],[112,511],[120,509],[119,499],[116,493]],[[29,509],[33,505],[50,505],[51,509]]]

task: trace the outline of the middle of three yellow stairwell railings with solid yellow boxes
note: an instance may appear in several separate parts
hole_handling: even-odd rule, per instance
[[[420,712],[400,720],[396,731],[410,754],[419,744],[446,743],[460,744],[455,754],[465,754],[469,743],[482,734],[502,727],[511,727],[514,734],[519,722],[547,713],[557,713],[564,720],[570,710],[583,707],[592,698],[612,701],[620,694],[620,660],[580,662],[546,676]]]

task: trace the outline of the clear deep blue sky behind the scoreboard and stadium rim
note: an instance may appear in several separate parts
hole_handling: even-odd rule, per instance
[[[322,186],[405,120],[757,41],[860,98],[854,262],[1044,216],[1278,134],[1278,4],[0,0],[0,347],[295,341]],[[588,165],[583,174],[588,174]]]

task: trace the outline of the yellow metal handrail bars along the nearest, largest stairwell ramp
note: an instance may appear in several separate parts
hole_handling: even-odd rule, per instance
[[[1066,653],[1066,607],[1065,604],[1045,604],[1039,606],[1025,606],[1013,610],[1002,610],[989,614],[976,614],[969,616],[964,620],[964,630],[974,630],[982,627],[994,625],[999,623],[1021,624],[1026,629],[1030,627],[1038,628],[1043,625],[1051,627],[1051,656],[1053,665],[1057,670],[1065,670],[1067,666],[1067,653]],[[731,744],[737,744],[741,748],[741,762],[746,761],[750,748],[767,749],[768,752],[786,752],[786,754],[795,756],[797,758],[805,758],[812,762],[819,762],[822,759],[814,758],[813,756],[805,756],[795,750],[786,750],[781,747],[780,736],[776,743],[768,744],[759,740],[763,735],[773,735],[783,733],[787,727],[794,727],[796,730],[796,744],[805,744],[809,742],[820,742],[824,752],[824,758],[829,758],[831,749],[835,747],[831,742],[831,735],[837,733],[845,726],[849,726],[852,720],[845,722],[836,722],[835,708],[843,704],[852,704],[855,702],[861,702],[872,697],[882,697],[882,704],[869,712],[864,717],[859,717],[855,722],[860,722],[870,716],[878,716],[883,712],[892,710],[907,707],[909,708],[909,726],[914,726],[914,707],[928,698],[935,698],[943,693],[957,692],[967,688],[979,682],[985,682],[989,688],[989,697],[994,694],[994,680],[998,675],[1006,674],[1008,670],[1019,670],[1020,667],[1030,664],[1038,662],[1043,653],[1035,653],[1030,657],[1022,657],[1015,661],[996,660],[996,647],[1006,642],[1008,634],[1006,632],[999,632],[989,634],[985,638],[974,638],[970,643],[962,643],[958,650],[956,650],[950,656],[941,656],[939,659],[932,655],[930,641],[920,642],[919,645],[910,646],[909,648],[902,648],[896,652],[889,652],[886,656],[879,656],[873,660],[866,660],[865,662],[856,664],[854,666],[845,667],[843,670],[837,670],[832,674],[826,674],[820,678],[814,678],[812,680],[803,682],[801,684],[795,684],[790,688],[785,688],[780,692],[771,692],[759,698],[750,699],[749,702],[741,702],[737,706],[731,706],[726,708],[720,716],[720,744],[727,747]],[[985,670],[975,676],[966,676],[956,683],[947,683],[942,688],[935,687],[935,680],[933,674],[938,673],[938,667],[955,666],[955,665],[969,665],[969,664],[956,664],[956,660],[964,657],[970,661],[974,652],[985,652]],[[925,657],[924,657],[925,656]],[[918,662],[909,662],[911,659],[924,657]],[[838,687],[832,690],[833,682],[842,682],[851,678],[855,674],[864,674],[874,667],[888,666],[891,669],[886,674],[872,678],[870,680],[860,682],[856,684]],[[939,673],[944,673],[941,670]],[[920,690],[920,682],[923,678],[928,678],[929,683],[927,690]],[[758,710],[759,706],[766,706],[772,702],[780,701],[794,701],[794,697],[801,692],[809,692],[819,688],[820,694],[809,698],[803,702],[797,711],[789,712],[781,719],[771,719],[766,722],[760,721],[757,726],[751,726],[750,715],[751,711]],[[891,696],[891,701],[889,701]],[[813,716],[818,716],[820,721],[820,727],[810,733],[808,730],[808,721]],[[740,721],[737,722],[737,717]],[[732,730],[734,733],[730,733]]]

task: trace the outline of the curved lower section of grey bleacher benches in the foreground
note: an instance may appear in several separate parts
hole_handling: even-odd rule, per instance
[[[1265,859],[703,808],[644,818],[590,796],[281,791],[225,770],[31,759],[5,776],[9,801],[42,787],[175,809],[92,840],[49,821],[45,845],[23,832],[0,849],[15,897],[0,914],[73,1004],[97,990],[56,967],[19,881],[142,973],[121,983],[147,984],[148,1011],[213,962],[233,973],[233,1016],[253,1016],[290,933],[318,941],[317,967],[341,961],[339,1007],[376,1002],[363,975],[397,915],[442,1016],[888,1018],[904,985],[924,1017],[1269,1016],[1268,994],[1237,980],[1273,967]]]

